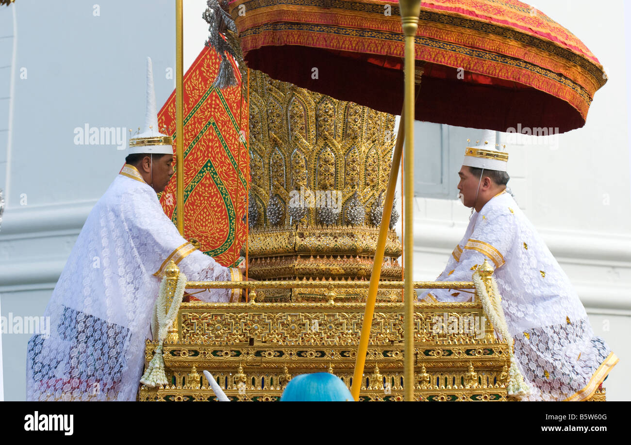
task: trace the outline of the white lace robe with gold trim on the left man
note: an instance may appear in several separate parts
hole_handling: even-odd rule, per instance
[[[196,250],[164,214],[138,170],[126,165],[98,200],[52,292],[50,335],[27,351],[27,400],[135,400],[163,270],[188,280],[240,280]],[[196,294],[236,301],[240,289]]]

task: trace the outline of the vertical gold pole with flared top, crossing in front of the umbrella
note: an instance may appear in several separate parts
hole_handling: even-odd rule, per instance
[[[414,38],[418,28],[418,13],[421,0],[399,0],[401,8],[401,23],[405,35],[405,149],[403,154],[403,193],[404,193],[404,242],[403,267],[403,398],[406,402],[414,400],[414,289],[412,287],[412,258],[414,254],[414,67],[415,52]]]

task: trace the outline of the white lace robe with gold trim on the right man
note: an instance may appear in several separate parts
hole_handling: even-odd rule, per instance
[[[473,212],[439,281],[471,281],[484,260],[502,308],[530,400],[586,400],[618,358],[594,336],[569,278],[510,194]],[[469,301],[471,292],[419,289],[422,301]]]

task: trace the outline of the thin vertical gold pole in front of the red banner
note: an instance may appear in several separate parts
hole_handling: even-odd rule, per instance
[[[184,236],[184,12],[182,0],[175,0],[175,173],[177,229]]]

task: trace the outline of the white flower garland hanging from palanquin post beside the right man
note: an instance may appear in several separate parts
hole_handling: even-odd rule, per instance
[[[517,398],[527,396],[530,394],[530,388],[524,381],[524,376],[522,376],[519,371],[519,367],[517,366],[517,359],[515,358],[512,347],[514,341],[512,335],[510,335],[509,327],[506,324],[504,309],[502,309],[502,304],[500,303],[500,301],[502,301],[502,297],[500,296],[500,291],[497,288],[497,282],[495,282],[494,279],[491,279],[491,291],[495,298],[491,298],[491,296],[489,296],[487,287],[480,277],[480,272],[477,270],[473,274],[473,283],[480,295],[482,308],[491,319],[493,327],[502,336],[502,340],[509,344],[510,370],[509,381],[507,384],[508,393],[509,395]]]

